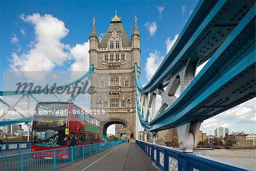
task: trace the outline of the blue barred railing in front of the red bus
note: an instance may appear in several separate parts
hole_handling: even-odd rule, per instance
[[[61,166],[74,161],[84,159],[93,153],[103,151],[114,145],[121,144],[122,140],[108,143],[88,144],[76,147],[53,149],[31,153],[20,153],[18,155],[0,157],[0,170],[56,170]]]

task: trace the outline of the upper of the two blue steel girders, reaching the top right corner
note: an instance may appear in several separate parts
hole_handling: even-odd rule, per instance
[[[207,1],[210,5],[213,5],[213,2]],[[166,86],[170,77],[175,76],[183,69],[187,61],[196,66],[207,61],[254,3],[254,1],[218,1],[216,4],[214,3],[213,8],[209,8],[209,14],[207,14],[203,22],[194,26],[191,21],[199,19],[195,18],[195,16],[197,12],[201,12],[199,10],[200,7],[197,6],[196,11],[184,27],[186,30],[196,27],[195,31],[191,31],[192,36],[185,34],[187,31],[183,29],[174,47],[172,47],[148,84],[144,87],[138,85],[139,91],[147,94],[158,87]],[[203,3],[199,3],[199,6],[201,5]],[[184,37],[185,35],[187,36]]]

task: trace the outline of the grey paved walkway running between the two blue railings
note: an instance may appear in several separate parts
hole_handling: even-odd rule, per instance
[[[58,170],[159,170],[135,143],[122,143]]]

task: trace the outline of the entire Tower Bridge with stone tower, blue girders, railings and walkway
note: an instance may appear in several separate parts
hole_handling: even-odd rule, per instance
[[[68,147],[64,150],[70,155],[65,160],[58,157],[63,153],[61,149],[3,156],[1,170],[255,170],[193,152],[204,120],[255,98],[255,1],[199,1],[174,46],[145,86],[139,82],[141,36],[137,16],[130,39],[117,11],[101,40],[96,19],[92,22],[90,70],[65,85],[77,86],[79,81],[82,88],[90,82],[96,90],[89,97],[90,109],[105,110],[107,114],[98,118],[102,138],[106,138],[110,125],[122,124],[127,143]],[[202,64],[205,66],[196,75]],[[44,93],[61,101],[56,90]],[[15,111],[15,105],[24,98],[28,108],[30,98],[40,102],[27,91],[0,91],[1,97],[11,95],[21,97],[14,105],[1,98],[7,110]],[[79,95],[77,91],[64,101],[74,102]],[[156,95],[162,98],[158,111]],[[7,120],[0,126],[21,122],[30,125],[31,120]],[[180,149],[155,144],[157,132],[167,128],[177,128]],[[43,160],[38,160],[37,155]],[[51,160],[46,162],[45,157]]]

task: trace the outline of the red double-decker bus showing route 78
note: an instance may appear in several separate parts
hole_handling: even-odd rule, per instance
[[[101,142],[100,121],[67,102],[40,102],[32,124],[31,151]]]

